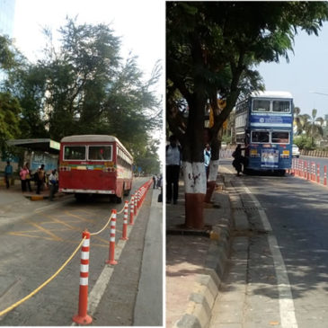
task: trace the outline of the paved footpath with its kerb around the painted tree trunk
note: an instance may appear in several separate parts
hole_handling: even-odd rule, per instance
[[[185,231],[183,185],[177,205],[166,206],[166,327],[205,327],[217,297],[229,252],[230,199],[222,174],[206,208],[208,231]]]

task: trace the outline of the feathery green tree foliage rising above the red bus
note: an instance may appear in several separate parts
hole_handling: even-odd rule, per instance
[[[155,65],[145,81],[137,58],[120,58],[120,38],[108,25],[67,19],[55,49],[51,33],[44,58],[22,63],[8,76],[6,90],[22,105],[22,137],[106,134],[118,137],[132,155],[146,154],[154,129],[161,129],[161,101],[154,88],[162,74]]]

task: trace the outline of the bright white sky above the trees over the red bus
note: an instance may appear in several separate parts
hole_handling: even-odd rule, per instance
[[[77,16],[78,23],[110,24],[114,35],[121,38],[121,57],[127,58],[129,52],[136,55],[138,67],[148,79],[158,59],[164,67],[164,14],[164,0],[16,0],[13,39],[34,62],[41,58],[44,48],[44,27],[50,28],[56,38],[66,16]],[[164,74],[156,93],[164,95]],[[164,139],[163,133],[155,137]]]

